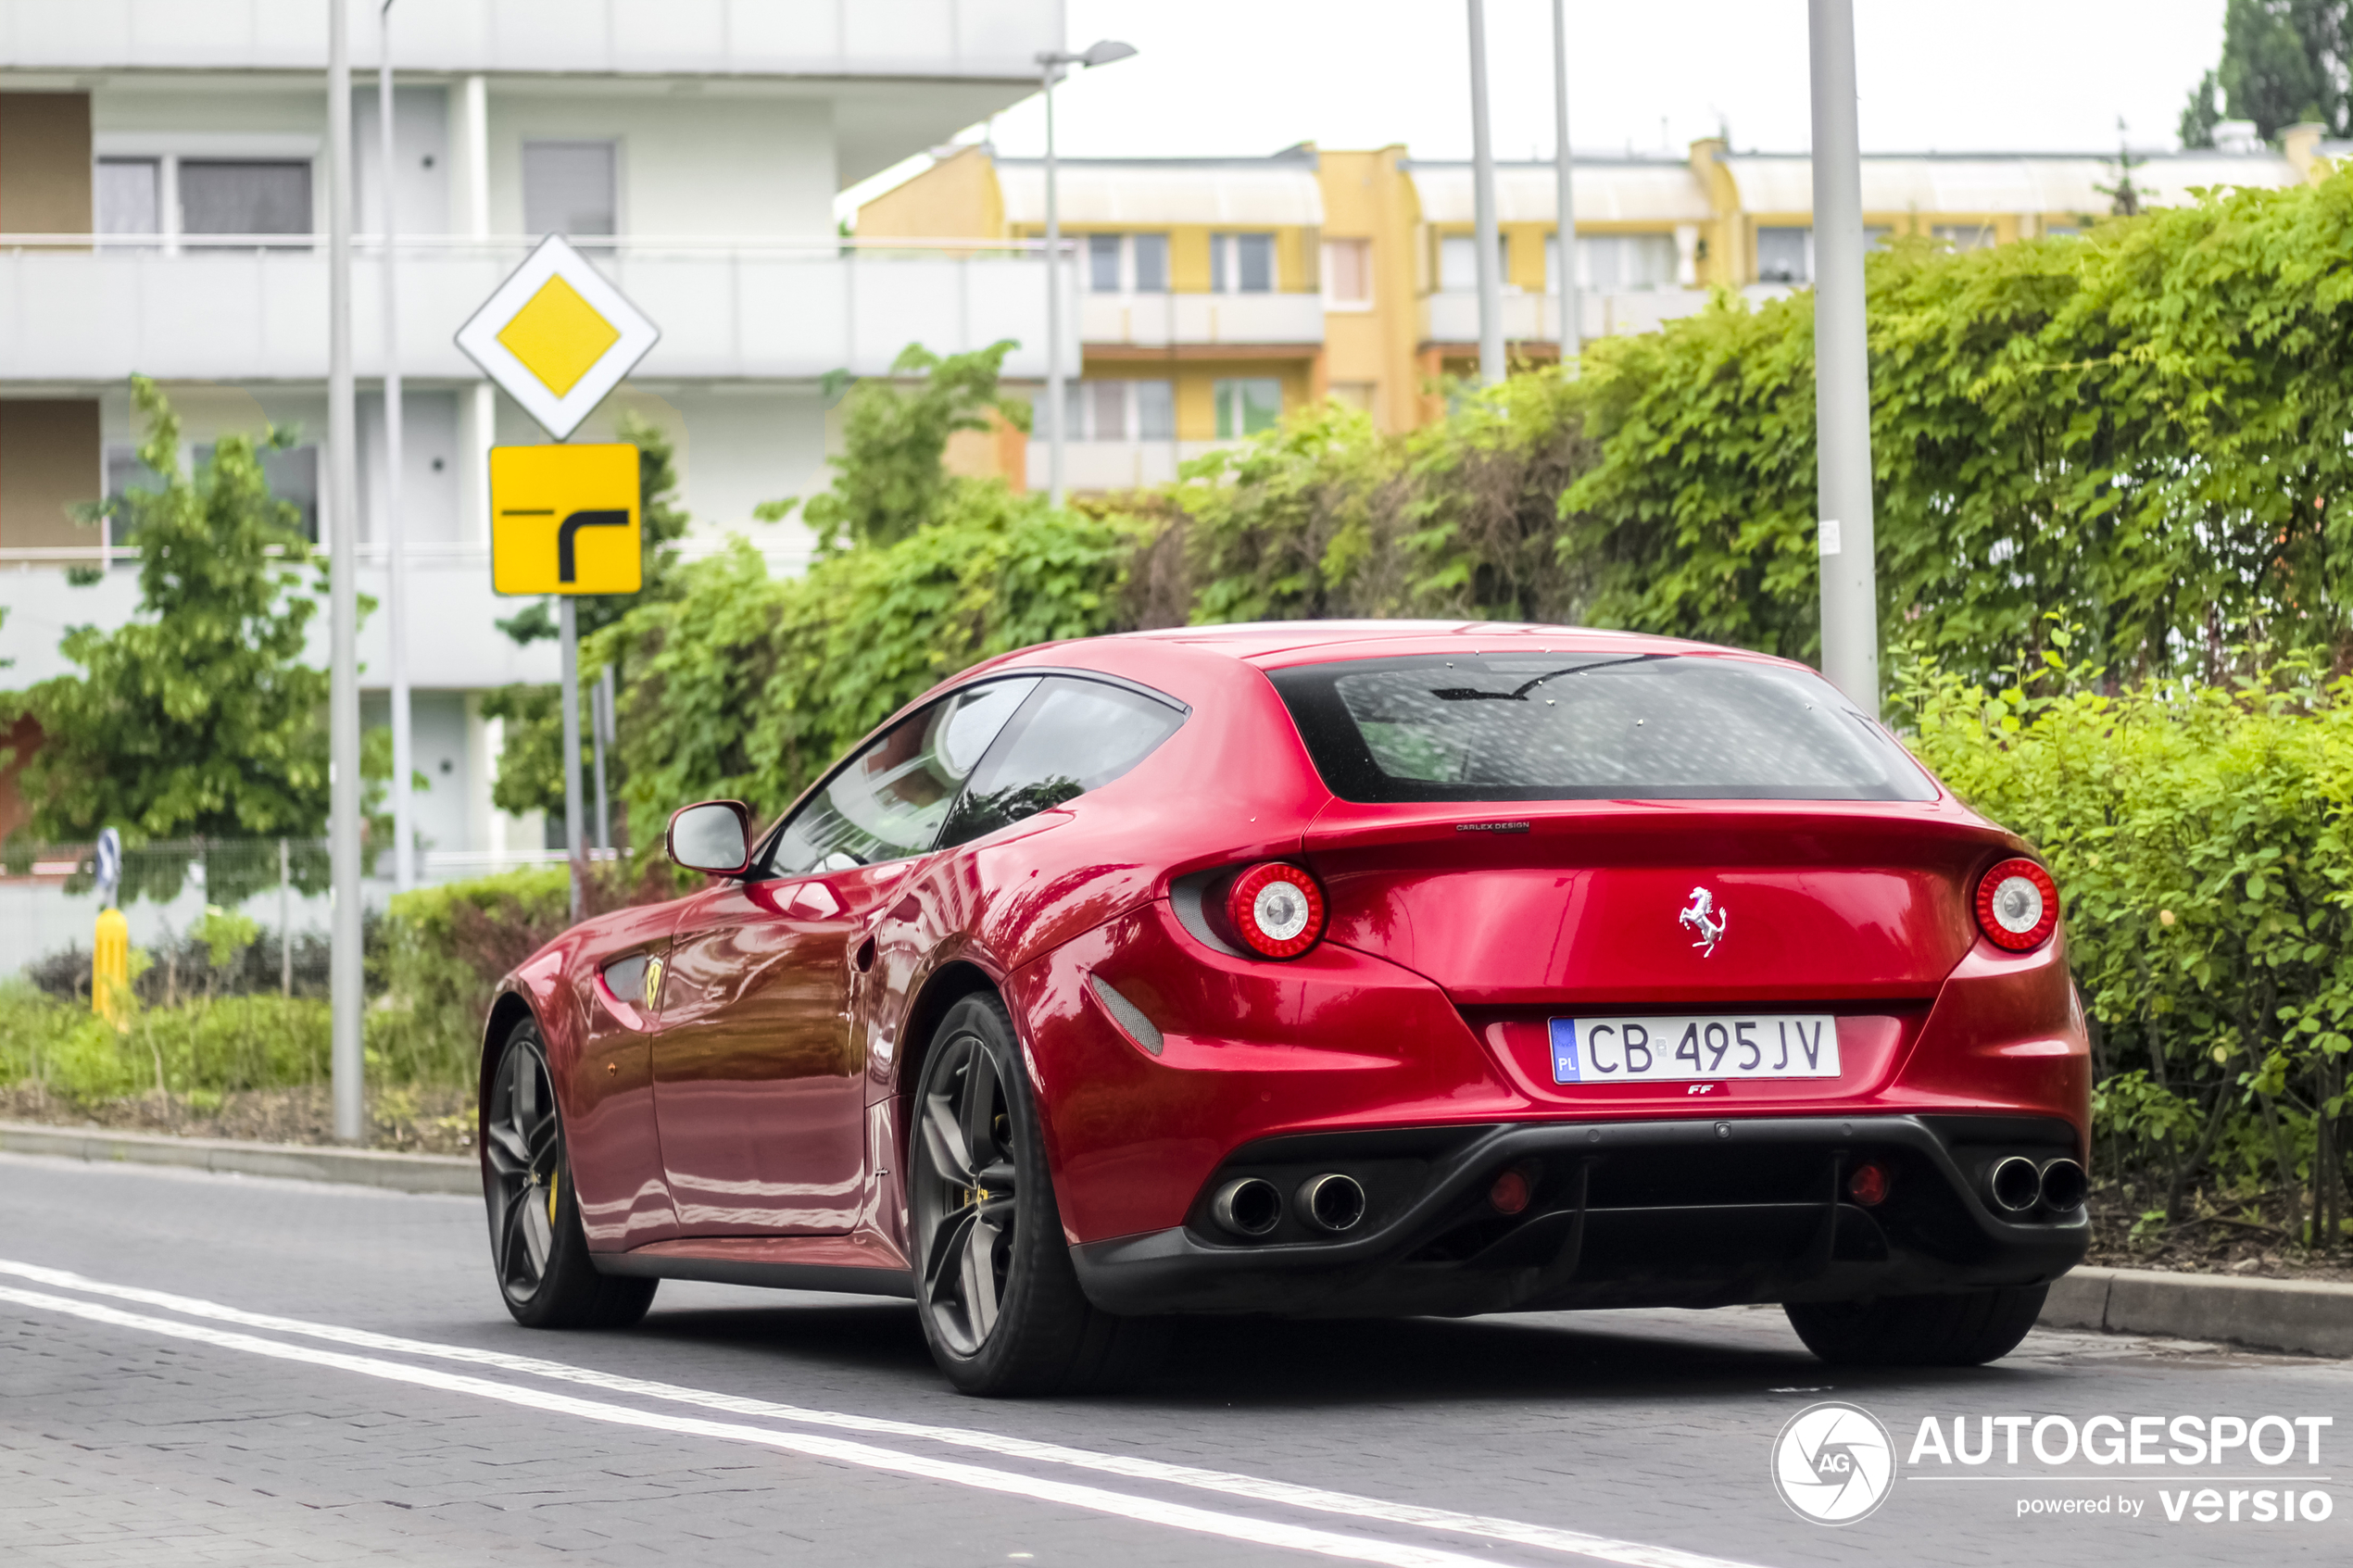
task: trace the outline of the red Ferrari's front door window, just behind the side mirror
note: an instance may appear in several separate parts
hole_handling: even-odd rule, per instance
[[[802,802],[765,875],[838,872],[932,849],[965,778],[1035,686],[1038,677],[981,682],[892,724]]]

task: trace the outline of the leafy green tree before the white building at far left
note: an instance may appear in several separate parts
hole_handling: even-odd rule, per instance
[[[89,508],[139,548],[139,614],[59,644],[82,675],[7,698],[42,745],[24,769],[31,832],[87,839],[113,825],[162,837],[315,837],[327,820],[327,672],[301,663],[318,602],[292,505],[271,498],[254,437],[226,435],[193,480],[179,418],[146,376],[139,458],[160,475]],[[271,433],[287,444],[289,433]],[[322,588],[322,585],[320,585]]]

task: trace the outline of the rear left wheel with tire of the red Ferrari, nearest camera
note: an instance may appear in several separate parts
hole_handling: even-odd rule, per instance
[[[911,1124],[915,1309],[948,1382],[962,1394],[1052,1394],[1148,1371],[1165,1326],[1101,1312],[1078,1288],[998,997],[965,997],[941,1018]]]

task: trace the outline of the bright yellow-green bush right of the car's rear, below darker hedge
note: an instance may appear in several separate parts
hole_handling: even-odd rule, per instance
[[[2047,642],[2073,635],[2052,625]],[[2346,1213],[2353,679],[2104,691],[2092,668],[1988,691],[1899,663],[1920,755],[2059,882],[2094,1041],[2104,1164],[2179,1222],[2200,1180]]]

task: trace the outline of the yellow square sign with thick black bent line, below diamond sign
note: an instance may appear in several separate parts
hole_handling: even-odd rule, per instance
[[[638,592],[638,449],[492,447],[496,592]]]

